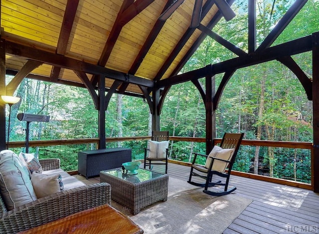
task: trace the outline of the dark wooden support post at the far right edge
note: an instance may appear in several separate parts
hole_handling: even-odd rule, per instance
[[[313,39],[313,115],[314,115],[314,154],[312,173],[314,192],[319,193],[319,33]]]

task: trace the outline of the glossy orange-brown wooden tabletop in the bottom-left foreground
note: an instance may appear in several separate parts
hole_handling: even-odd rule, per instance
[[[19,234],[143,234],[143,230],[109,204],[20,232]]]

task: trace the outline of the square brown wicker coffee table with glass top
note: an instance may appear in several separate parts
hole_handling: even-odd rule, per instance
[[[111,197],[136,215],[158,201],[167,200],[168,175],[139,168],[138,174],[129,175],[122,168],[100,172],[101,182],[111,184]]]

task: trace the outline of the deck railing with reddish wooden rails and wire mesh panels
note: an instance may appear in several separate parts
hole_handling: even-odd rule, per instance
[[[132,160],[140,160],[144,158],[144,149],[149,139],[149,136],[107,138],[106,147],[131,148]],[[189,165],[194,152],[205,154],[205,138],[169,137],[169,140],[170,162]],[[221,139],[215,139],[214,143],[218,144],[220,141]],[[78,168],[78,152],[95,150],[98,142],[97,138],[29,141],[29,153],[35,153],[40,158],[60,158],[64,170],[74,171]],[[25,152],[24,142],[10,142],[9,148],[16,153]],[[305,142],[243,140],[232,172],[240,176],[312,189],[312,149],[313,144]],[[259,155],[258,174],[254,174],[256,154]]]

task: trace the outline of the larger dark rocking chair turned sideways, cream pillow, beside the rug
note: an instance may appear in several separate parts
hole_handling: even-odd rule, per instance
[[[220,147],[214,146],[212,151],[209,153],[209,155],[201,155],[198,153],[195,153],[188,183],[199,186],[199,187],[205,187],[204,193],[207,193],[212,196],[222,196],[229,194],[236,190],[236,187],[232,187],[228,189],[228,182],[230,177],[230,172],[235,160],[235,157],[237,155],[239,146],[241,144],[241,141],[243,139],[244,133],[225,133],[224,137],[220,143]],[[197,156],[204,156],[206,157],[206,163],[205,165],[198,165],[195,164]],[[228,171],[225,172],[226,167],[228,167]],[[196,170],[196,172],[194,171]],[[211,182],[212,176],[216,174],[220,177],[226,178],[226,182],[222,183],[222,181],[217,182]],[[200,178],[205,179],[204,183],[197,183],[194,181],[191,181],[192,176],[199,176]],[[209,191],[208,187],[221,185],[224,186],[223,191]]]

